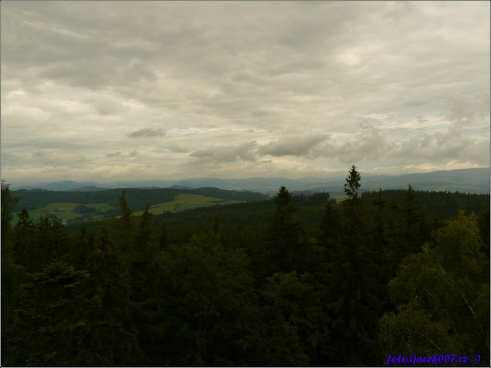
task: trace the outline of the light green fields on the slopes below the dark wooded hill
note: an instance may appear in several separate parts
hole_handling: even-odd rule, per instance
[[[241,203],[242,200],[225,200],[209,196],[201,196],[194,194],[179,194],[172,201],[153,204],[150,206],[150,212],[159,215],[166,211],[179,212],[189,210],[197,207],[215,206],[218,204],[229,203]],[[114,206],[109,203],[89,203],[85,204],[86,207],[95,209],[95,212],[91,213],[77,213],[75,209],[80,206],[81,203],[72,202],[56,202],[50,203],[46,206],[42,206],[33,210],[29,210],[30,218],[36,222],[41,216],[53,218],[56,216],[59,220],[68,221],[97,221],[104,218],[110,218],[114,216]],[[136,211],[135,216],[141,216],[143,211]],[[13,225],[17,223],[18,217],[14,213]]]

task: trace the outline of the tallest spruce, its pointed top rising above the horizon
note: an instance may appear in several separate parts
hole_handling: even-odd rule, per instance
[[[329,353],[332,364],[374,363],[381,302],[377,297],[369,226],[358,196],[360,174],[353,165],[346,178],[341,245],[329,252],[328,304],[331,316]]]

